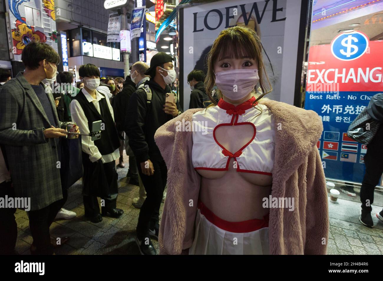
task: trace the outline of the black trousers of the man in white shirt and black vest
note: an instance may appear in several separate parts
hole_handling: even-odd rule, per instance
[[[118,174],[116,172],[116,162],[111,161],[103,164],[106,175],[106,180],[109,185],[111,198],[101,198],[105,200],[105,207],[108,210],[116,208],[118,196]],[[100,214],[100,207],[98,206],[97,196],[83,196],[85,216],[93,218]]]

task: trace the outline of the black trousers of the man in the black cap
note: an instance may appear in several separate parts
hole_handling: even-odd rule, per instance
[[[162,196],[166,186],[167,168],[165,161],[151,160],[154,167],[153,175],[144,175],[141,163],[137,162],[138,172],[146,191],[146,199],[140,209],[137,223],[137,237],[142,240],[147,237],[150,229],[159,229],[159,214]]]

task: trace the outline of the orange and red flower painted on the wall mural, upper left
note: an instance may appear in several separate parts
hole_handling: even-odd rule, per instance
[[[27,26],[25,24],[25,18],[21,19],[23,19],[24,22],[17,20],[16,28],[12,29],[13,46],[16,47],[16,55],[20,55],[23,52],[24,47],[31,41],[47,41],[44,32],[41,32],[32,26]]]

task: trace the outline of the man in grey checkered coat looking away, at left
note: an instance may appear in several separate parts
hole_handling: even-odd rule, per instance
[[[59,170],[60,137],[66,134],[51,89],[41,81],[56,79],[60,57],[51,46],[30,42],[21,60],[25,72],[0,89],[0,143],[15,197],[30,198],[31,253],[52,254],[49,226],[66,200]]]

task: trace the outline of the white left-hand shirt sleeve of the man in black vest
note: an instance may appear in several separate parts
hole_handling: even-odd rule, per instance
[[[88,134],[88,119],[85,117],[84,111],[80,106],[77,100],[72,100],[70,102],[70,115],[72,116],[72,121],[76,122],[77,126],[80,128],[81,133]],[[97,146],[94,142],[90,140],[90,136],[81,136],[81,148],[82,151],[89,154],[89,159],[91,162],[96,162],[98,159],[101,159],[101,153],[98,151]]]

